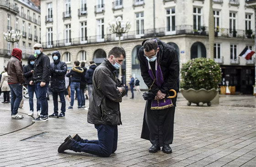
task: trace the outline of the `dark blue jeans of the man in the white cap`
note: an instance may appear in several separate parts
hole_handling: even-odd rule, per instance
[[[38,91],[38,99],[40,101],[41,106],[41,115],[47,116],[48,115],[48,101],[46,99],[47,87],[49,82],[45,83],[45,86],[40,86],[41,82],[37,83],[37,91]]]

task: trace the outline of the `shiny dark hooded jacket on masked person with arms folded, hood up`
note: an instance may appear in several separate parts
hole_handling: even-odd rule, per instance
[[[55,51],[52,56],[56,54],[58,60],[53,60],[51,63],[51,91],[61,92],[66,89],[65,74],[67,73],[67,64],[60,61],[60,53]]]

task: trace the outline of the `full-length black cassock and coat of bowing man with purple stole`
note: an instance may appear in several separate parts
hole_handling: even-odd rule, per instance
[[[144,50],[143,47],[141,47],[139,49],[138,57],[144,83],[149,88],[151,87],[149,91],[154,94],[159,90],[161,90],[162,93],[167,94],[170,89],[175,89],[176,92],[178,92],[179,60],[177,52],[174,47],[165,44],[165,42],[162,42],[157,38],[155,39],[157,40],[160,48],[159,61],[164,83],[161,88],[158,88],[156,84],[153,84],[153,80],[150,78],[147,69],[147,60],[144,57]],[[155,62],[149,63],[151,67],[155,67]],[[155,68],[152,68],[152,72],[155,75]],[[173,107],[163,110],[150,110],[151,100],[146,102],[141,138],[149,140],[152,144],[156,144],[158,146],[172,144],[176,98],[171,99],[174,104]]]

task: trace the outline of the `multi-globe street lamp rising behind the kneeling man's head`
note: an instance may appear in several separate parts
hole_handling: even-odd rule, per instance
[[[109,31],[111,33],[117,34],[118,36],[118,46],[121,47],[121,36],[122,34],[126,33],[129,31],[129,29],[131,28],[131,23],[130,21],[126,21],[123,22],[122,21],[122,17],[118,16],[116,18],[116,21],[113,21],[112,23],[108,23],[109,25]],[[121,79],[121,75],[122,75],[122,68],[119,68],[119,79]]]

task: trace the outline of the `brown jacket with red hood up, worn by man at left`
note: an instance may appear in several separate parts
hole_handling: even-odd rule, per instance
[[[25,78],[23,76],[23,67],[21,64],[21,49],[14,48],[11,52],[12,57],[7,63],[8,84],[23,84]]]

